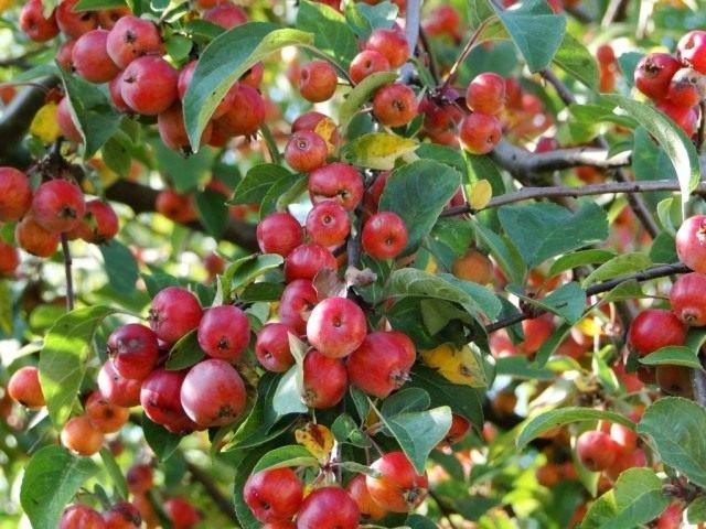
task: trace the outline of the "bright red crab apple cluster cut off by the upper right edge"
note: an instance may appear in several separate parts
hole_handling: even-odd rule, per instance
[[[689,138],[700,119],[706,74],[706,31],[694,30],[680,39],[674,55],[654,52],[638,63],[635,87],[666,114]]]

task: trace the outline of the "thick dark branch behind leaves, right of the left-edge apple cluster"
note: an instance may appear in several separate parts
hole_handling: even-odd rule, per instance
[[[148,187],[136,182],[119,180],[106,190],[106,198],[127,204],[136,214],[156,212],[154,204],[159,191]],[[203,224],[197,220],[186,224],[192,229],[205,231]],[[248,251],[257,251],[257,238],[255,236],[255,226],[228,218],[228,224],[223,231],[223,239],[228,240],[240,248]]]

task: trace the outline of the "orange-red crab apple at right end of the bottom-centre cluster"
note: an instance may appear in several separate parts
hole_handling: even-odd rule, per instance
[[[382,476],[365,476],[365,485],[373,500],[392,512],[408,512],[419,507],[427,496],[429,481],[417,474],[404,452],[388,452],[374,461],[371,468]]]

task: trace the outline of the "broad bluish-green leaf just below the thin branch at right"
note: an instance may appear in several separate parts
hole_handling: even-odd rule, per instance
[[[528,204],[503,206],[498,216],[531,268],[608,237],[606,212],[587,201],[574,213],[556,204]]]

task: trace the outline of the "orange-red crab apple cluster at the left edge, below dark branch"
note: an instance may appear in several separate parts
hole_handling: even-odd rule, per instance
[[[14,168],[0,168],[0,222],[17,222],[18,247],[38,257],[49,257],[58,248],[62,234],[101,244],[118,233],[118,217],[100,199],[86,201],[73,181],[56,179],[32,190],[30,177]],[[0,244],[0,269],[11,273],[19,263],[17,249]]]

